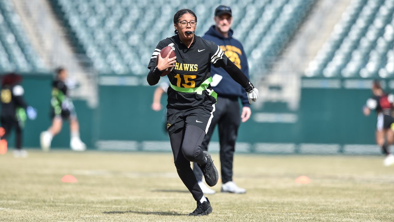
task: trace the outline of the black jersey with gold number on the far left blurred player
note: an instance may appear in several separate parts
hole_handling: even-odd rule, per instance
[[[5,85],[1,89],[2,117],[15,117],[17,108],[26,109],[27,105],[23,100],[23,94],[24,90],[20,85]]]

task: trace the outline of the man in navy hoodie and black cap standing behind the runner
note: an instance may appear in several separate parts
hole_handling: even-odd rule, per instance
[[[231,8],[223,5],[218,6],[215,9],[214,20],[216,25],[211,26],[203,38],[213,41],[219,45],[225,55],[249,78],[249,69],[245,51],[243,51],[242,44],[238,40],[232,38],[234,32],[231,29]],[[208,143],[211,139],[214,128],[218,125],[221,179],[223,183],[221,192],[243,194],[246,190],[238,187],[232,181],[232,162],[240,120],[245,122],[251,115],[247,94],[245,89],[236,83],[222,68],[215,68],[214,66],[211,66],[211,76],[213,79],[211,85],[214,88],[214,91],[217,92],[217,103],[214,117],[210,124],[208,133],[204,137],[201,148],[205,151],[208,149]],[[240,114],[240,104],[238,99],[241,99],[243,104],[242,114]],[[203,173],[197,164],[194,164],[193,171],[204,194],[214,194],[214,190],[208,188],[203,182],[201,182]]]

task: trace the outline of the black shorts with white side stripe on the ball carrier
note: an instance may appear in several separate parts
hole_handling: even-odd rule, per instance
[[[191,109],[177,109],[176,107],[167,106],[167,130],[171,135],[180,128],[187,125],[195,125],[208,132],[211,124],[215,104],[204,107],[197,106]]]

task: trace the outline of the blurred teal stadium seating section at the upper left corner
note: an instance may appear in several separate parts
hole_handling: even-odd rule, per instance
[[[0,0],[0,72],[32,70],[44,70],[43,61],[33,50],[11,1]]]

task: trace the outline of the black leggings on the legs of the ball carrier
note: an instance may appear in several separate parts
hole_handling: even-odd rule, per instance
[[[206,164],[201,149],[204,136],[205,131],[194,125],[187,125],[170,135],[171,149],[178,175],[196,201],[203,198],[204,194],[190,167],[190,162],[200,165]]]

